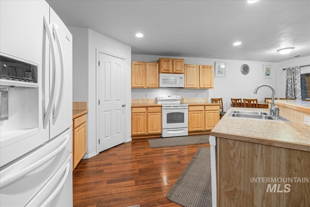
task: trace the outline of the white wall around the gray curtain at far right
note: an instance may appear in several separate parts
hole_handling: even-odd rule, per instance
[[[279,63],[279,70],[278,70],[279,97],[285,97],[286,70],[283,70],[283,68],[309,65],[309,64],[310,64],[310,56]],[[301,73],[310,73],[310,67],[302,67],[300,70]]]

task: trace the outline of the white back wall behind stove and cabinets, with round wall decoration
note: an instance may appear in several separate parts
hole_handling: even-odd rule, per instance
[[[141,62],[157,62],[159,57],[153,55],[132,55],[132,61]],[[187,57],[169,57],[183,58],[185,64],[207,64],[214,65],[215,62],[226,63],[226,77],[214,77],[213,89],[132,89],[132,98],[153,98],[158,94],[176,93],[181,97],[222,97],[224,111],[227,111],[231,106],[231,98],[257,98],[263,101],[264,97],[271,97],[271,90],[267,87],[260,88],[257,94],[253,91],[258,85],[270,84],[277,93],[277,77],[272,79],[263,79],[263,64],[273,65],[273,70],[277,71],[278,63],[254,62],[254,61],[238,61],[238,60],[221,60],[221,59],[204,59],[204,58],[187,58]],[[240,72],[242,64],[248,64],[250,72],[248,75],[243,75]]]

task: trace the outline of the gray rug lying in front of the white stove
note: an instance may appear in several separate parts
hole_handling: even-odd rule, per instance
[[[148,139],[151,148],[168,147],[168,146],[182,146],[191,144],[209,143],[209,136],[206,134],[192,135],[184,137],[166,137],[158,139]]]

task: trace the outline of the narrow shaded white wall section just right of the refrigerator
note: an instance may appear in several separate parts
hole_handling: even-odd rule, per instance
[[[68,29],[73,35],[72,100],[88,101],[88,29]]]

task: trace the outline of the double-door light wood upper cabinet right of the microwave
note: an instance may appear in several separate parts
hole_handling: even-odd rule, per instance
[[[213,65],[184,65],[184,88],[213,88]]]

